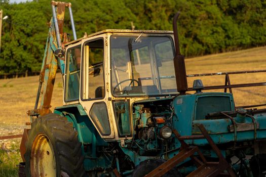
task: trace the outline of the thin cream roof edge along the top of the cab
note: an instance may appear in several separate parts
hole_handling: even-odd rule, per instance
[[[173,31],[164,31],[164,30],[105,29],[105,30],[102,30],[102,31],[99,31],[99,32],[95,32],[95,33],[89,34],[89,35],[87,35],[87,33],[85,33],[83,37],[81,37],[81,38],[79,38],[77,40],[72,40],[70,42],[67,42],[67,43],[65,43],[64,46],[66,47],[66,46],[71,45],[73,43],[79,42],[82,39],[86,39],[88,37],[92,37],[92,36],[103,34],[103,33],[107,33],[107,32],[110,32],[110,33],[161,33],[161,34],[163,33],[163,34],[173,34]]]

